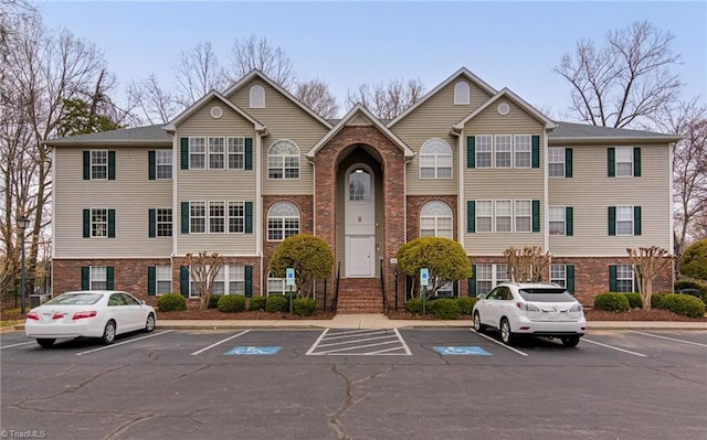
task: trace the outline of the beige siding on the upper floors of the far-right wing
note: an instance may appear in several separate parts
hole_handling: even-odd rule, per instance
[[[560,146],[558,146],[560,147]],[[671,250],[669,148],[641,147],[640,178],[606,176],[606,148],[572,148],[571,179],[550,178],[550,206],[573,207],[573,236],[550,236],[555,256],[626,256],[627,247],[659,246]],[[609,236],[609,206],[641,206],[640,236]]]

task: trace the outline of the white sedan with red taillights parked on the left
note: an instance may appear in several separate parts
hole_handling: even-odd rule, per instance
[[[151,305],[127,292],[66,292],[30,310],[24,333],[45,348],[64,337],[101,337],[105,344],[113,344],[120,333],[151,332],[155,316]]]

